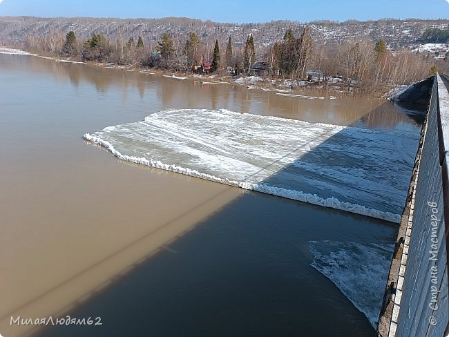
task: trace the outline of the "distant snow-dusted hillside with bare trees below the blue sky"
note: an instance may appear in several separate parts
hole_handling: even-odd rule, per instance
[[[341,44],[346,39],[365,37],[374,42],[384,39],[391,50],[416,48],[421,43],[424,32],[435,28],[441,30],[449,28],[449,20],[446,19],[350,20],[341,23],[271,21],[236,24],[180,17],[162,19],[0,17],[0,43],[21,44],[29,35],[35,37],[66,35],[69,30],[73,30],[77,37],[82,39],[87,39],[95,32],[102,33],[114,41],[122,30],[126,37],[142,36],[145,44],[150,46],[154,46],[164,32],[169,32],[177,41],[185,41],[189,32],[195,32],[206,44],[212,43],[215,39],[225,42],[230,36],[236,46],[243,44],[247,35],[252,34],[256,47],[260,48],[282,39],[289,28],[299,35],[305,24],[310,26],[314,41],[320,44]]]

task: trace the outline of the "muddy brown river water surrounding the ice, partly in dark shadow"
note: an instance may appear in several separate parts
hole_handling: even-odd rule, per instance
[[[0,55],[0,333],[372,336],[310,267],[307,242],[391,243],[397,227],[126,164],[82,139],[165,108],[419,132],[412,111],[379,99],[298,99]],[[103,325],[10,324],[67,314]]]

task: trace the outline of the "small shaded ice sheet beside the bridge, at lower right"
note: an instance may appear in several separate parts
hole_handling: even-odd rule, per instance
[[[310,241],[311,266],[323,273],[377,328],[394,244]]]

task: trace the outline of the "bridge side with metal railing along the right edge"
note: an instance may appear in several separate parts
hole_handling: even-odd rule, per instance
[[[385,287],[381,337],[449,336],[448,90],[449,77],[435,75]]]

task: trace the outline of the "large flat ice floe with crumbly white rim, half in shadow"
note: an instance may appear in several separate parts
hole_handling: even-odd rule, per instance
[[[173,109],[84,138],[128,162],[399,222],[418,136]]]

